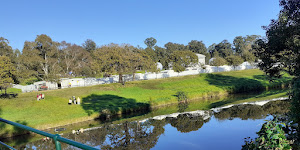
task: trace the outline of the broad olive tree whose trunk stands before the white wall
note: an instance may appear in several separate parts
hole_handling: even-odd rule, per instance
[[[136,52],[130,45],[109,44],[94,52],[94,67],[102,73],[118,74],[119,82],[123,83],[123,75],[135,73],[136,69],[153,68],[154,62],[142,52]]]

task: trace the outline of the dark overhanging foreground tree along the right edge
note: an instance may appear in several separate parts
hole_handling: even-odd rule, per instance
[[[267,75],[281,77],[287,72],[294,77],[291,112],[294,122],[300,124],[300,1],[280,0],[280,6],[279,18],[264,27],[267,39],[258,40],[254,49]]]

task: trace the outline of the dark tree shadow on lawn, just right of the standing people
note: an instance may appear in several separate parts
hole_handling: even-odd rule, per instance
[[[150,111],[148,103],[138,103],[132,98],[110,94],[92,94],[84,97],[82,99],[82,107],[89,115],[95,112],[105,116]]]

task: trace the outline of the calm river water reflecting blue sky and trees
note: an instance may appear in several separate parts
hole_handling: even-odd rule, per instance
[[[191,106],[184,106],[187,107]],[[272,101],[262,106],[235,105],[218,111],[178,112],[131,122],[93,125],[83,133],[68,132],[62,136],[100,149],[233,150],[241,149],[244,138],[256,137],[264,120],[284,114],[287,109],[287,101]],[[55,149],[55,145],[50,140],[36,140],[16,148]],[[62,144],[62,148],[76,149],[66,144]]]

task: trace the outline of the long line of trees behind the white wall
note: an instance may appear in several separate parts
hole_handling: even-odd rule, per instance
[[[190,64],[196,64],[195,53],[207,58],[214,57],[212,65],[239,65],[243,61],[254,61],[253,45],[257,35],[237,36],[233,44],[224,40],[206,47],[202,41],[192,40],[187,45],[168,42],[164,47],[156,45],[153,37],[145,39],[146,48],[129,44],[97,46],[87,39],[82,45],[56,42],[48,35],[37,35],[34,41],[25,41],[22,51],[13,49],[9,41],[0,37],[1,87],[10,83],[31,84],[45,80],[59,82],[63,77],[99,77],[135,74],[138,70],[156,72],[160,62],[163,69],[172,68],[181,72]]]

